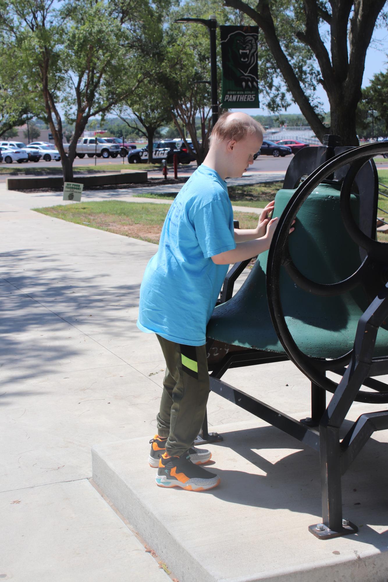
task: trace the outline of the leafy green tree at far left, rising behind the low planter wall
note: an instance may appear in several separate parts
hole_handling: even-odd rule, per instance
[[[87,122],[128,97],[147,71],[131,74],[131,55],[154,33],[167,0],[0,0],[0,30],[28,80],[72,180],[77,140]],[[159,19],[160,20],[160,19]],[[126,74],[123,74],[123,72]],[[129,83],[130,80],[130,83]],[[74,123],[65,153],[63,110]]]

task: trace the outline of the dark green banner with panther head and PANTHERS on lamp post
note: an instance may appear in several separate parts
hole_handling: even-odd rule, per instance
[[[258,26],[220,26],[222,56],[221,107],[259,107]]]

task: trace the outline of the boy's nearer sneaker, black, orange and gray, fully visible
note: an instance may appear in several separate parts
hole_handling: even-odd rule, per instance
[[[220,478],[190,460],[190,455],[169,457],[164,453],[159,460],[158,474],[155,477],[158,487],[180,487],[187,491],[208,491],[217,487]]]

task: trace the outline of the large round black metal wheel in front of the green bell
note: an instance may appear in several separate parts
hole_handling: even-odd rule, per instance
[[[312,172],[311,175],[309,175],[308,178],[298,186],[293,197],[284,209],[282,216],[279,218],[279,223],[273,235],[268,253],[266,273],[268,306],[272,324],[279,341],[282,343],[290,360],[293,361],[305,375],[307,375],[311,382],[321,386],[322,389],[329,392],[335,392],[337,384],[326,377],[325,371],[335,371],[337,368],[348,364],[351,361],[354,350],[351,350],[351,352],[333,360],[322,360],[307,356],[307,354],[301,352],[294,342],[284,318],[279,287],[280,268],[284,265],[284,268],[286,268],[286,271],[293,281],[297,285],[300,285],[302,289],[308,289],[310,292],[316,294],[332,296],[354,288],[354,286],[361,281],[371,255],[372,258],[375,258],[377,255],[380,261],[382,260],[383,255],[385,255],[385,261],[388,264],[388,244],[373,241],[362,233],[361,230],[359,230],[357,223],[355,223],[350,211],[350,189],[355,175],[362,165],[364,165],[369,159],[373,158],[373,156],[381,154],[383,151],[388,151],[387,144],[379,143],[362,145],[361,147],[348,150],[333,157]],[[309,279],[297,270],[290,259],[288,236],[292,222],[304,201],[319,183],[322,183],[323,180],[325,180],[329,175],[332,175],[333,172],[337,171],[342,166],[353,164],[354,162],[354,166],[348,171],[341,187],[341,214],[343,215],[344,224],[348,229],[350,236],[359,246],[364,248],[368,254],[357,271],[344,281],[329,285],[322,285],[321,283],[309,281]],[[359,391],[357,396],[355,396],[355,400],[368,403],[387,403],[388,396],[385,393]]]

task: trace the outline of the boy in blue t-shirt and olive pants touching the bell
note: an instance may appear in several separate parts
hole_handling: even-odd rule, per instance
[[[225,182],[243,175],[262,139],[261,125],[246,113],[220,116],[208,155],[171,205],[158,253],[145,269],[137,326],[156,333],[166,360],[149,455],[159,487],[205,491],[220,481],[201,467],[211,453],[193,446],[209,395],[206,327],[229,264],[268,250],[276,228],[277,218],[268,219],[272,201],[257,228],[234,230]]]

